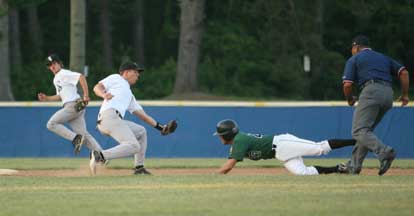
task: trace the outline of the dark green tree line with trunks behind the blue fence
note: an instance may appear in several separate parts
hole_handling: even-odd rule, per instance
[[[0,0],[0,100],[53,94],[50,53],[91,85],[143,64],[141,99],[340,100],[357,34],[413,68],[413,15],[413,0]]]

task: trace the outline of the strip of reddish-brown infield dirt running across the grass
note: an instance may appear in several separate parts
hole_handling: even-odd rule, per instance
[[[148,169],[154,176],[166,175],[206,175],[213,174],[216,168],[187,168],[187,169]],[[377,175],[377,169],[364,169],[361,175]],[[128,176],[132,175],[132,169],[108,169],[100,168],[97,171],[97,176]],[[229,175],[291,175],[284,168],[236,168],[233,169]],[[414,169],[390,169],[387,176],[412,176]],[[89,170],[80,168],[76,170],[19,170],[17,173],[8,174],[7,176],[48,176],[48,177],[84,177],[91,176]]]

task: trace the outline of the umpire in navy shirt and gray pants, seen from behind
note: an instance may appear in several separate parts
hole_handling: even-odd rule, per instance
[[[378,175],[383,175],[390,168],[396,153],[385,145],[373,133],[385,113],[393,103],[392,76],[398,76],[402,95],[402,106],[408,104],[409,75],[406,68],[395,60],[373,51],[369,38],[363,35],[352,40],[352,57],[344,69],[343,91],[350,106],[356,102],[352,96],[354,82],[360,90],[359,102],[352,119],[352,137],[357,140],[348,162],[349,173],[359,174],[368,151],[374,152],[379,161]]]

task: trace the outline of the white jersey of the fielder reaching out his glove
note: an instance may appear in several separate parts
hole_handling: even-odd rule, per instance
[[[112,99],[104,100],[101,109],[99,110],[99,114],[107,109],[115,109],[118,110],[122,117],[124,117],[126,110],[133,113],[136,110],[143,109],[142,106],[136,101],[135,96],[132,94],[131,86],[128,81],[121,75],[109,75],[105,79],[99,81],[99,83],[105,87],[105,91],[107,93],[113,95]]]

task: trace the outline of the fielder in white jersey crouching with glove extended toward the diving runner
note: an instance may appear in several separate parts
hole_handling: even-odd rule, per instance
[[[144,111],[131,91],[144,68],[134,62],[125,62],[119,68],[118,74],[112,74],[99,81],[94,87],[97,96],[104,99],[98,115],[98,130],[110,135],[120,145],[103,151],[93,151],[91,154],[91,173],[96,173],[96,165],[106,160],[129,157],[134,155],[134,174],[151,174],[144,168],[147,150],[147,131],[135,122],[124,119],[129,111],[142,121],[158,129],[161,135],[168,135],[177,129],[177,121],[172,120],[161,124]]]

